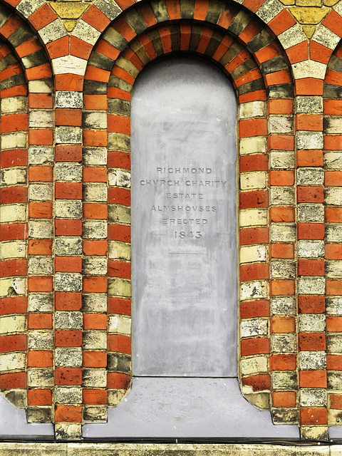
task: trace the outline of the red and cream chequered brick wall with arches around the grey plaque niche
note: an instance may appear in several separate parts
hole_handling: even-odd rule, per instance
[[[239,105],[242,394],[341,425],[341,5],[0,1],[0,388],[28,422],[78,439],[129,392],[130,94],[192,53]]]

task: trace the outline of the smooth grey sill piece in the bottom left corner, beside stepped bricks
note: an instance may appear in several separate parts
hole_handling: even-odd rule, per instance
[[[26,410],[15,408],[0,396],[0,439],[1,440],[53,440],[52,424],[29,424]]]

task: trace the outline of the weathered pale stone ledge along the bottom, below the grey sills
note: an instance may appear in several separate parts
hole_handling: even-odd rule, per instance
[[[2,442],[1,456],[342,456],[342,445]]]

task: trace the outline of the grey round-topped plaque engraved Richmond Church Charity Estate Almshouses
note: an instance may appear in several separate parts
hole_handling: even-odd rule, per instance
[[[237,375],[236,100],[173,58],[132,101],[133,374]]]

